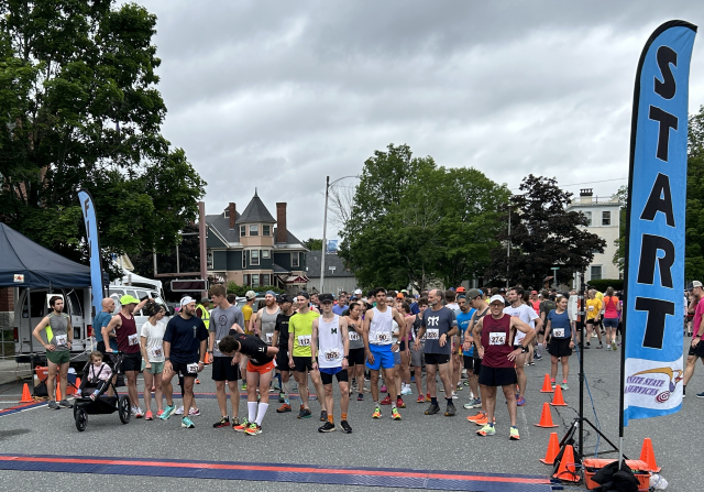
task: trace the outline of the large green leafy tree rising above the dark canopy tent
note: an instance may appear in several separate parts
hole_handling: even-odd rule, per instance
[[[173,249],[205,182],[160,131],[156,17],[111,0],[0,0],[0,218],[86,260],[77,189],[110,253]]]

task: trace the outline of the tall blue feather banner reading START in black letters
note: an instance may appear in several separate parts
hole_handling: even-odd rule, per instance
[[[640,55],[626,222],[623,426],[682,407],[690,59],[696,26],[658,28]],[[623,427],[622,427],[623,428]]]

